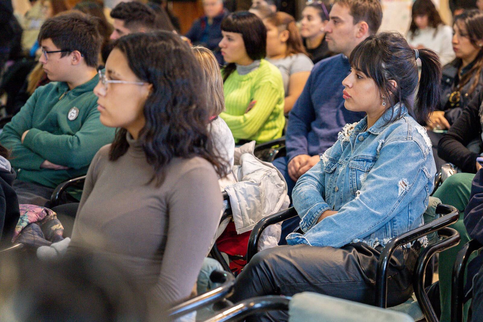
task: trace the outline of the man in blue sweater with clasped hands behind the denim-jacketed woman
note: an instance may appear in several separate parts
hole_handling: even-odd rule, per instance
[[[340,53],[317,63],[302,94],[290,111],[286,132],[286,157],[273,164],[284,174],[288,195],[297,179],[318,161],[337,140],[347,123],[360,121],[363,113],[344,107],[342,80],[350,73],[349,55],[355,46],[377,32],[383,12],[379,0],[336,0],[325,29],[330,51]],[[294,226],[284,222],[281,243]],[[291,229],[291,230],[290,230]]]

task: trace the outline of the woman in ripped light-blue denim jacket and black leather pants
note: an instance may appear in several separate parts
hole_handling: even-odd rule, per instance
[[[422,73],[414,93],[417,58]],[[345,107],[367,116],[344,126],[321,161],[298,179],[292,197],[304,234],[289,234],[288,245],[253,257],[235,283],[234,302],[311,291],[373,304],[383,246],[423,225],[436,166],[418,122],[439,102],[438,55],[412,50],[398,33],[381,32],[357,45],[349,59]],[[388,306],[412,294],[418,245],[401,247],[391,258]],[[270,312],[255,320],[286,321],[287,315]]]

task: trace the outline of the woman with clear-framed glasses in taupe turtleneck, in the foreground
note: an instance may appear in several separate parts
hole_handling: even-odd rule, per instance
[[[190,295],[222,209],[227,166],[200,84],[185,41],[157,31],[117,40],[94,89],[101,123],[118,131],[89,167],[68,253],[118,259],[155,310]]]

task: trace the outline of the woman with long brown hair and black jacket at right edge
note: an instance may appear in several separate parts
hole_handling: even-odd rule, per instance
[[[438,170],[446,160],[437,156],[441,130],[448,130],[463,108],[483,90],[483,13],[475,9],[456,16],[453,30],[456,59],[443,67],[440,107],[429,116],[427,124],[435,131],[428,135]]]

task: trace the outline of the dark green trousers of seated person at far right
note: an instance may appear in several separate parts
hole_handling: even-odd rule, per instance
[[[454,174],[446,179],[433,197],[439,198],[442,203],[454,206],[459,211],[458,221],[451,225],[461,235],[460,243],[444,252],[440,253],[439,279],[440,279],[440,300],[441,318],[440,322],[450,322],[451,316],[451,277],[453,265],[455,264],[456,254],[463,248],[470,238],[463,224],[465,208],[469,201],[471,191],[471,181],[475,174],[460,173]],[[469,304],[465,306],[464,321],[467,319]]]

